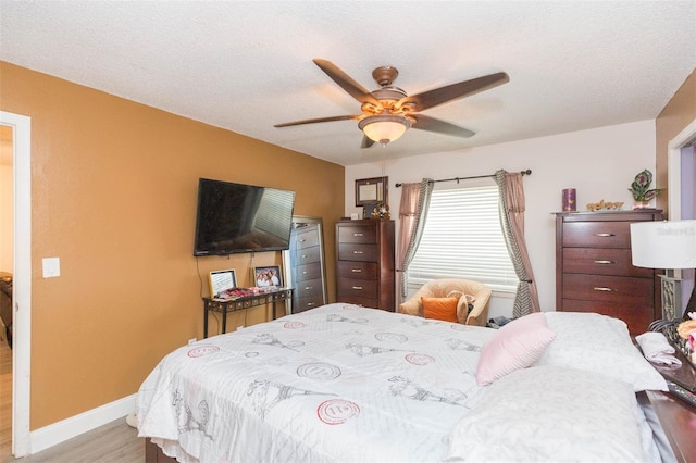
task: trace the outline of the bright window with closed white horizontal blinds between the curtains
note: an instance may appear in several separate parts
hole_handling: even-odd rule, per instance
[[[518,277],[498,217],[498,187],[458,185],[433,191],[421,243],[409,265],[409,286],[467,278],[514,292]]]

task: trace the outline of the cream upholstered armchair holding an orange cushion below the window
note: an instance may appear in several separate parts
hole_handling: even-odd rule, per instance
[[[457,321],[463,325],[486,326],[488,318],[488,301],[492,290],[483,283],[470,279],[434,279],[415,291],[406,302],[399,305],[399,313],[424,316],[421,298],[458,298]],[[468,303],[473,304],[468,312]]]

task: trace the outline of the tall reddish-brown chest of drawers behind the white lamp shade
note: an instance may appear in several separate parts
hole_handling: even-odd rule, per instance
[[[556,214],[556,310],[623,320],[632,336],[660,318],[659,277],[631,263],[631,227],[661,221],[662,211]]]

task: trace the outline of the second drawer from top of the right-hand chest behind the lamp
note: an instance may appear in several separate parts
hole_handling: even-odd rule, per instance
[[[633,266],[630,249],[564,248],[563,272],[652,278],[652,268]]]

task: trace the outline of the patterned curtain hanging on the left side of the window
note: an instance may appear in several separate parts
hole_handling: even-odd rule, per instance
[[[409,265],[423,235],[423,226],[425,226],[431,195],[433,193],[433,180],[423,178],[420,184],[403,184],[402,188],[399,208],[399,255],[401,256],[399,303],[406,298]]]

